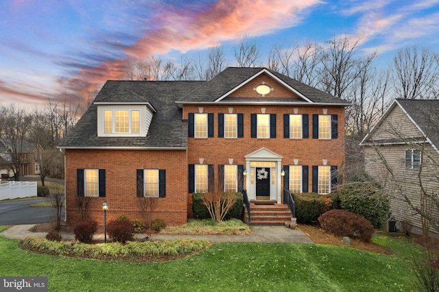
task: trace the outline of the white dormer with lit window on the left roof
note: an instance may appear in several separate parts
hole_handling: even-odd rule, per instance
[[[96,104],[100,137],[145,137],[156,112],[150,104]]]

